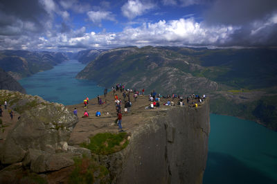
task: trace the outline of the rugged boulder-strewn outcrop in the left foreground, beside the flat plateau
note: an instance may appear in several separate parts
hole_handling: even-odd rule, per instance
[[[88,149],[67,144],[78,118],[62,104],[6,90],[0,90],[0,100],[8,102],[0,125],[0,160],[5,167],[0,183],[24,183],[27,173],[57,171],[73,165],[76,156],[91,155]],[[8,111],[15,117],[8,119]]]

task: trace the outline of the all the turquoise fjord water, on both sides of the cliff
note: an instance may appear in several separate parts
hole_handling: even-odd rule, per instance
[[[75,79],[84,68],[76,60],[20,80],[28,94],[51,102],[77,104],[103,88]],[[277,133],[256,122],[211,114],[204,184],[277,183]]]

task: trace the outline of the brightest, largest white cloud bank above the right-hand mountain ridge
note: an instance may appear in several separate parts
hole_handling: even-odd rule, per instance
[[[228,42],[236,28],[217,26],[205,28],[194,19],[159,21],[139,28],[125,28],[118,37],[137,45],[212,45]]]

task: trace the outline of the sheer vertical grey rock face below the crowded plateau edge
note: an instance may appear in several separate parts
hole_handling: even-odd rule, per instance
[[[208,99],[154,116],[134,132],[116,183],[202,183],[209,132]]]

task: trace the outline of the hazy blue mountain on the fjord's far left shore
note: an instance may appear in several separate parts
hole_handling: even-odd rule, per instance
[[[66,53],[0,50],[0,67],[19,80],[68,60]]]

